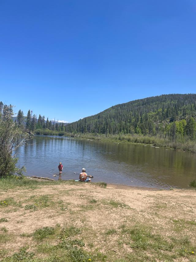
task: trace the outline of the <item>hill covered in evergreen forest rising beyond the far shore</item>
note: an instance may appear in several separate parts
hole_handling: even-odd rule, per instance
[[[72,133],[196,135],[196,94],[169,94],[130,101],[65,127]]]

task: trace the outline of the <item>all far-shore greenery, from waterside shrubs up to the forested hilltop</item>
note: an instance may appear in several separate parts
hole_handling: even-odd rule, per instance
[[[4,110],[2,102],[0,110]],[[38,135],[147,143],[196,152],[196,94],[134,100],[69,124],[45,120],[41,115],[37,118],[30,110],[25,118],[19,110],[16,122]]]

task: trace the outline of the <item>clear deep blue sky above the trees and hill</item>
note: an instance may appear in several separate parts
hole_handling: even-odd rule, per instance
[[[196,92],[195,0],[0,0],[0,100],[75,121]]]

